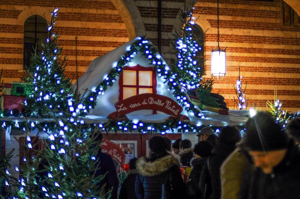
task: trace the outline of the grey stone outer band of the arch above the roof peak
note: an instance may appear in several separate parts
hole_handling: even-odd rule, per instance
[[[140,11],[138,10],[137,5],[134,3],[134,0],[111,0],[111,1],[112,2],[117,1],[117,2],[123,3],[123,5],[124,5],[123,8],[126,8],[128,14],[131,16],[131,20],[132,20],[132,23],[133,23],[133,26],[135,29],[135,33],[137,36],[146,35],[146,29],[145,29],[145,25],[143,22],[143,18],[141,16]],[[117,7],[118,7],[118,5],[116,6],[116,8]],[[126,23],[125,23],[125,25],[126,25]]]

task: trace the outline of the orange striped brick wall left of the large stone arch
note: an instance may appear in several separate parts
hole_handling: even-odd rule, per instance
[[[48,17],[47,10],[53,10],[54,6],[59,8],[55,28],[61,33],[59,42],[62,55],[68,56],[66,74],[71,79],[75,75],[75,36],[78,36],[79,77],[93,59],[129,41],[123,19],[110,0],[0,0],[0,69],[3,68],[4,83],[19,81],[23,75],[26,18],[34,14],[43,17],[39,10],[46,10]]]

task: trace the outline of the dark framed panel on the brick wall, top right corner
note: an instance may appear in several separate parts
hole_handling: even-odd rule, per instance
[[[300,17],[287,3],[282,1],[282,26],[287,28],[300,28]]]

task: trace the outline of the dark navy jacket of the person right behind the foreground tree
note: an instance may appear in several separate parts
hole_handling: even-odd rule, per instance
[[[99,175],[104,175],[106,172],[106,175],[104,177],[104,179],[101,181],[101,183],[98,184],[99,187],[102,187],[104,184],[106,184],[105,186],[105,193],[107,193],[109,190],[112,190],[112,197],[111,199],[117,199],[118,197],[118,176],[117,176],[117,171],[116,171],[116,167],[113,163],[113,159],[111,156],[102,153],[101,149],[98,151],[97,154],[97,159],[99,159],[100,161],[100,165],[95,176],[99,176]],[[98,165],[98,163],[96,164]]]

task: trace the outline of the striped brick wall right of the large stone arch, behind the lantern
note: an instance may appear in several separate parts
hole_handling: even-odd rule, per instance
[[[193,1],[195,2],[195,1]],[[135,1],[146,29],[146,35],[157,44],[157,1]],[[186,1],[192,3],[192,1]],[[171,57],[169,45],[176,23],[179,7],[184,1],[163,1],[162,3],[162,46],[163,57]],[[217,3],[215,0],[199,0],[195,4],[195,17],[203,31],[207,28],[204,56],[205,71],[210,77],[211,48],[217,47]],[[176,26],[176,27],[174,27]],[[247,81],[248,107],[257,105],[266,109],[266,101],[273,100],[277,87],[283,107],[290,111],[300,108],[300,29],[282,28],[281,0],[274,2],[220,0],[220,45],[227,47],[227,74],[216,79],[213,92],[225,97],[233,109],[235,96],[232,85],[241,68],[243,84]]]

